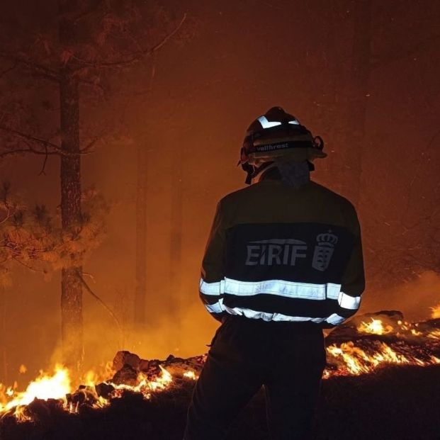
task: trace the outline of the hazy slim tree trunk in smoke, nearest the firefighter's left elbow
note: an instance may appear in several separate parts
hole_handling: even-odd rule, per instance
[[[176,318],[181,303],[181,264],[182,264],[182,159],[181,149],[172,157],[171,169],[171,237],[169,255],[169,313]],[[174,327],[176,334],[173,343],[179,343],[179,320]]]

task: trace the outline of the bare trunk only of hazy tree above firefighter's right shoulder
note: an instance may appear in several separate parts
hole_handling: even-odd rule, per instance
[[[371,75],[371,0],[354,2],[354,40],[351,53],[346,136],[338,169],[341,192],[359,205],[362,151],[365,134],[368,83]]]

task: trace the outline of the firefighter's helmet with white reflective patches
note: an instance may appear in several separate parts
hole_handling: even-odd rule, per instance
[[[250,184],[259,172],[280,161],[307,161],[314,170],[311,161],[327,156],[323,147],[322,138],[313,137],[295,116],[272,107],[249,125],[238,164],[247,172],[246,183]]]

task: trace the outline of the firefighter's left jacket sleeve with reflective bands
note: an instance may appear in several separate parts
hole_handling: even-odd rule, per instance
[[[205,247],[201,267],[199,295],[206,310],[221,321],[226,313],[223,309],[225,279],[223,275],[223,256],[225,252],[225,225],[222,215],[222,202],[215,210],[208,242]]]

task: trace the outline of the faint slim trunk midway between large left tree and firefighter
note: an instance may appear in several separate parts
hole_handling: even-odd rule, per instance
[[[144,327],[147,295],[147,150],[137,147],[135,327]]]

